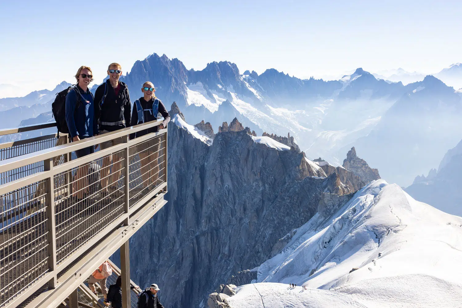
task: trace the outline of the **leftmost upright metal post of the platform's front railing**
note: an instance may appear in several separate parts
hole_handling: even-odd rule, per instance
[[[53,157],[43,161],[43,170],[48,171],[47,193],[45,196],[47,205],[48,226],[48,268],[53,273],[49,281],[49,288],[55,289],[58,284],[56,272],[56,220],[55,220],[55,187],[53,176]]]

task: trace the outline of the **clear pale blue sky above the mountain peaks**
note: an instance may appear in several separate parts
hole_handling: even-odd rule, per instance
[[[229,60],[241,72],[300,78],[402,67],[434,73],[462,62],[462,1],[13,1],[0,0],[0,84],[30,91],[98,83],[152,53],[187,68]]]

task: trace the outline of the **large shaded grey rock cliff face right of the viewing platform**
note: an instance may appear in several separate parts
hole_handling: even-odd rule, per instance
[[[211,146],[176,125],[168,131],[168,203],[130,239],[131,278],[160,283],[169,307],[203,307],[216,285],[259,266],[308,221],[330,185],[309,176],[303,152],[246,131],[219,133]]]

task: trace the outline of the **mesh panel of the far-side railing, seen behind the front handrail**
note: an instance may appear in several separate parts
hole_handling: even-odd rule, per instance
[[[33,139],[32,139],[33,140]],[[48,139],[31,141],[22,145],[13,145],[7,148],[0,149],[0,160],[5,160],[12,157],[29,154],[36,151],[52,148],[56,145],[63,145],[67,143],[67,135],[58,137],[50,137]],[[67,162],[67,155],[55,157],[53,164],[56,166],[61,163]],[[43,171],[43,161],[38,163],[31,163],[16,169],[8,170],[0,173],[0,185],[9,183],[14,180],[21,179],[25,176],[33,175],[37,172]]]

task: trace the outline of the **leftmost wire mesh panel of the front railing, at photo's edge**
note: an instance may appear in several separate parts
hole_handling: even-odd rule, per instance
[[[0,306],[49,270],[46,183],[0,196]]]

